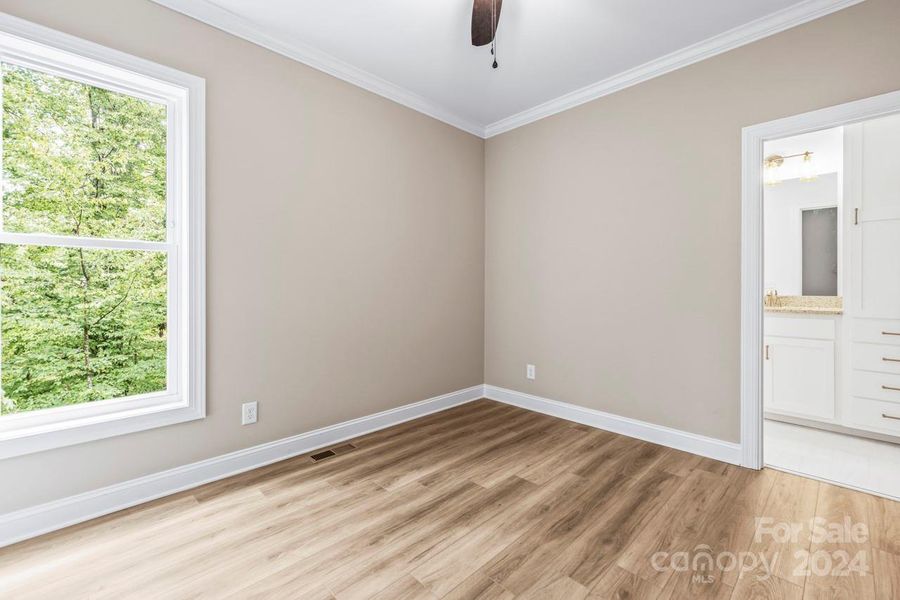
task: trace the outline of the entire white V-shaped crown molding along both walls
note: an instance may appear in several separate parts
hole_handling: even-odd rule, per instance
[[[435,102],[306,44],[267,33],[251,21],[212,4],[208,0],[152,1],[475,136],[490,138],[808,23],[865,0],[806,0],[489,125],[482,125],[456,115]]]

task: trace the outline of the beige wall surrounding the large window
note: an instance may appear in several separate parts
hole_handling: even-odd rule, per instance
[[[147,0],[0,11],[206,78],[209,411],[0,461],[0,513],[483,382],[482,140]]]

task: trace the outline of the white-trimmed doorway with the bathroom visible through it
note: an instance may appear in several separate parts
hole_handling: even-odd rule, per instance
[[[900,92],[743,143],[743,465],[898,499]]]

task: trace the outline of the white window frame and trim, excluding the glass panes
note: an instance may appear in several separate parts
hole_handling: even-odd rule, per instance
[[[3,415],[0,459],[204,418],[205,80],[3,13],[0,60],[160,102],[168,115],[164,242],[0,230],[3,244],[167,252],[167,389]]]

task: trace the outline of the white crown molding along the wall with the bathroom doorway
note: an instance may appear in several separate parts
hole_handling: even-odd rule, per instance
[[[865,0],[806,0],[784,10],[774,12],[724,33],[713,36],[681,50],[676,50],[633,69],[623,71],[597,83],[569,92],[543,104],[501,119],[485,127],[485,138],[528,125],[545,117],[575,108],[591,100],[602,98],[665,75],[688,65],[700,62],[739,48],[792,27],[814,21]]]

